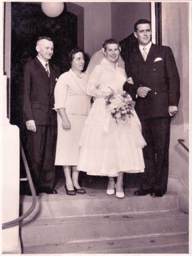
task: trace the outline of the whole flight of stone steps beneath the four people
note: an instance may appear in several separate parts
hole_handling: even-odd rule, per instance
[[[189,216],[178,211],[177,195],[162,198],[106,195],[104,187],[83,186],[87,194],[40,194],[35,211],[20,225],[23,253],[188,253]],[[21,196],[22,211],[32,203]]]

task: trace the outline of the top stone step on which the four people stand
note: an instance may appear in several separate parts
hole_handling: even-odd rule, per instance
[[[57,195],[40,194],[35,210],[27,220],[54,219],[66,216],[90,216],[111,213],[158,212],[177,209],[177,195],[167,192],[162,198],[134,196],[134,188],[126,189],[124,199],[106,195],[106,190],[86,188],[87,194],[69,196],[63,190]],[[20,213],[32,204],[31,196],[21,196]]]

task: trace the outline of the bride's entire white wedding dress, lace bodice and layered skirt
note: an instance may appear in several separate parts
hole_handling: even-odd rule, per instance
[[[89,78],[87,93],[95,96],[95,101],[80,137],[77,166],[78,170],[89,175],[117,177],[120,171],[144,171],[142,148],[146,141],[136,112],[133,111],[133,116],[117,125],[105,107],[104,97],[108,87],[121,94],[125,81],[125,70],[118,64],[114,69],[105,58],[93,69]]]

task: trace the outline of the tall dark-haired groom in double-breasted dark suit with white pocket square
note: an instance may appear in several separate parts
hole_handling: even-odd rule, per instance
[[[134,31],[139,44],[126,66],[134,86],[125,85],[124,90],[136,101],[135,111],[147,142],[143,149],[146,168],[139,174],[139,190],[134,195],[163,196],[168,182],[170,119],[178,112],[180,77],[171,49],[152,44],[151,23],[140,19]]]

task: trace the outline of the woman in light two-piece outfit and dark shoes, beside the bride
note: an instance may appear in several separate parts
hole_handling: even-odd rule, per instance
[[[78,182],[76,169],[79,156],[79,138],[84,121],[91,107],[91,97],[87,95],[87,80],[82,73],[84,51],[73,49],[70,53],[71,69],[63,73],[54,90],[57,111],[58,135],[55,165],[62,165],[66,178],[66,194],[85,194]],[[72,178],[71,178],[72,169]]]

